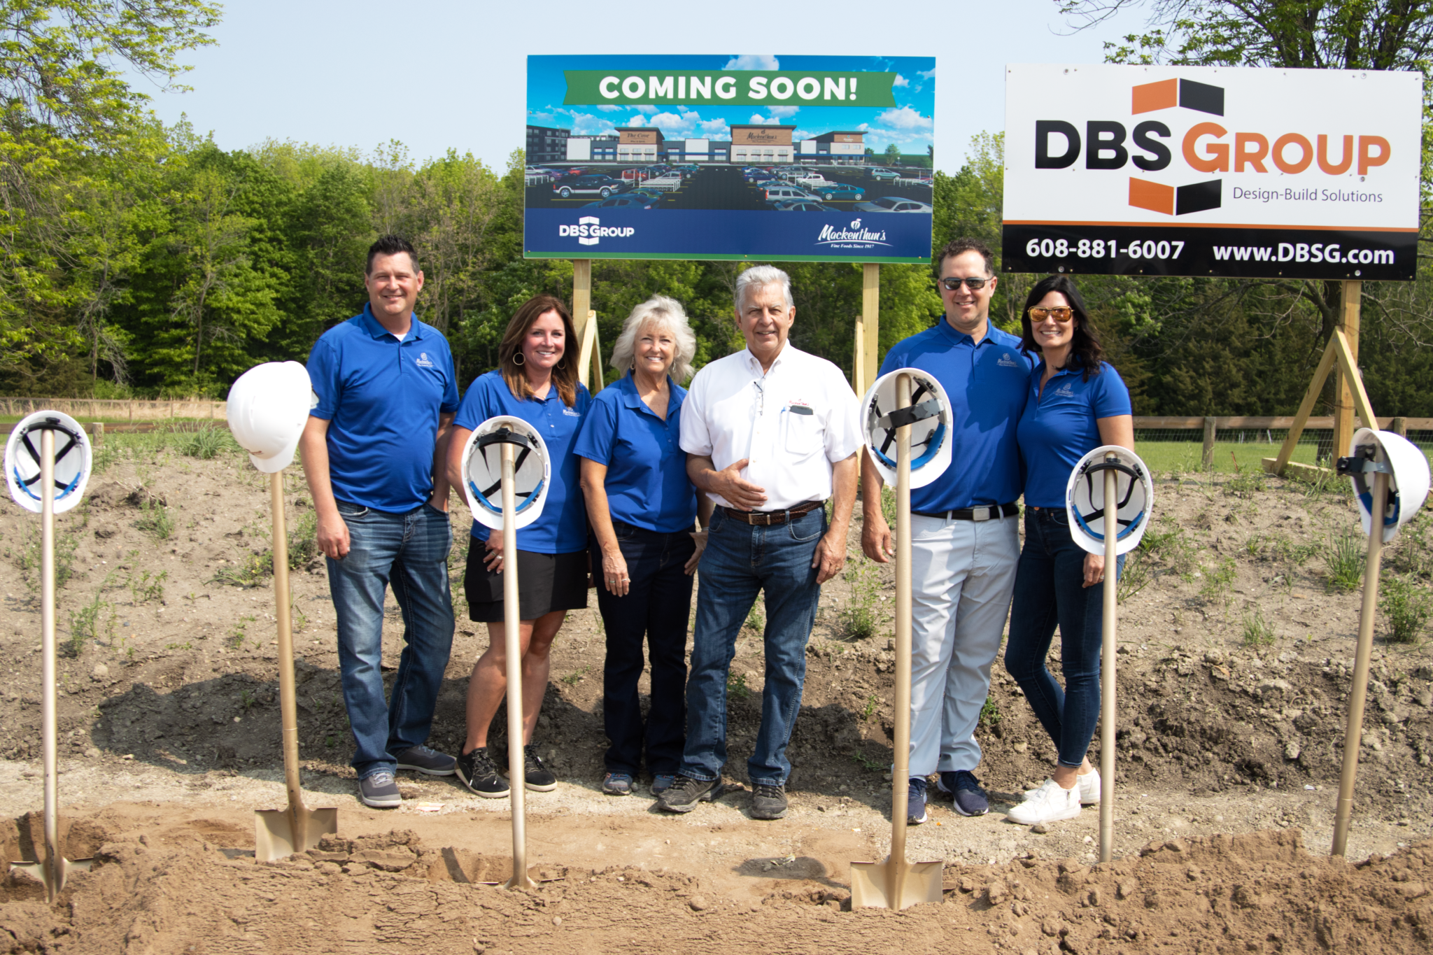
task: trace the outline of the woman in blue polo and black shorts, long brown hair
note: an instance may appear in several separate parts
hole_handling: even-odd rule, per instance
[[[463,447],[489,418],[512,415],[533,425],[547,445],[552,484],[542,517],[517,531],[522,581],[523,753],[524,785],[547,792],[557,785],[532,742],[547,690],[549,651],[569,610],[588,606],[588,515],[577,490],[577,458],[572,452],[582,418],[592,404],[577,381],[577,362],[566,305],[552,295],[527,299],[503,332],[499,365],[480,375],[463,395],[453,418],[449,480],[463,487]],[[479,796],[506,796],[509,782],[487,753],[487,727],[507,693],[503,629],[503,535],[473,523],[463,577],[469,617],[487,624],[487,651],[473,664],[467,684],[467,740],[457,775]],[[516,740],[509,740],[509,746]]]

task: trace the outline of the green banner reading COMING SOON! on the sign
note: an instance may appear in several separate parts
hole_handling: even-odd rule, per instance
[[[563,70],[565,106],[896,106],[896,73]]]

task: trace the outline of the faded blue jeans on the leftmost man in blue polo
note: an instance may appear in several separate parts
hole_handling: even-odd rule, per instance
[[[396,772],[401,753],[433,727],[443,672],[453,649],[449,515],[427,504],[407,514],[338,501],[350,550],[328,558],[328,588],[338,614],[338,670],[354,735],[358,779]],[[388,584],[403,610],[403,656],[393,697],[383,699],[383,598]]]

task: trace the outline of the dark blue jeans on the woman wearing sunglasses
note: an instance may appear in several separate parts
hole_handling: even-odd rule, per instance
[[[1115,578],[1125,566],[1123,556]],[[1105,586],[1085,587],[1085,551],[1070,538],[1065,508],[1025,508],[1025,550],[1015,571],[1005,669],[1059,750],[1060,766],[1085,762],[1099,722],[1099,650]],[[1065,689],[1045,667],[1056,624]]]

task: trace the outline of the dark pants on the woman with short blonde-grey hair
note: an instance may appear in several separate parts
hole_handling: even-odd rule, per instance
[[[636,775],[646,767],[675,773],[682,762],[686,717],[686,617],[692,610],[692,578],[682,570],[696,550],[689,531],[663,534],[626,521],[612,521],[628,564],[631,587],[618,597],[598,583],[598,609],[608,634],[602,664],[602,722],[610,746],[609,773]],[[600,573],[602,548],[593,541],[592,566]],[[642,679],[642,640],[652,657],[652,706],[642,720],[636,692]]]

